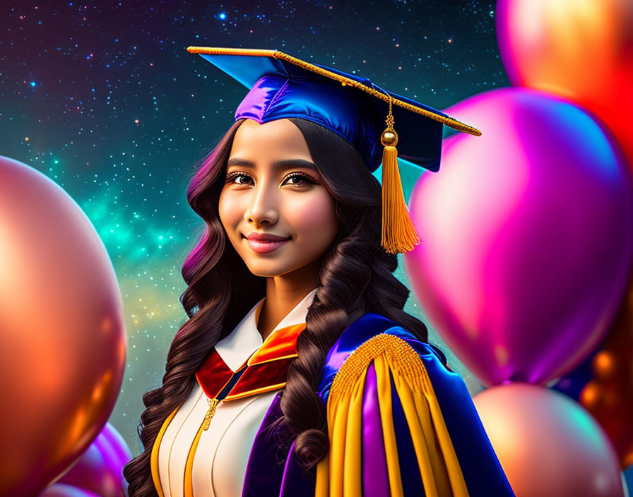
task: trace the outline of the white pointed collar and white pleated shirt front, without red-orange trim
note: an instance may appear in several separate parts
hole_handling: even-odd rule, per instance
[[[305,323],[317,289],[309,292],[274,328]],[[261,299],[234,328],[215,345],[215,350],[232,371],[237,371],[264,343],[257,330]],[[194,438],[206,416],[208,402],[196,382],[187,400],[167,425],[158,448],[158,474],[164,497],[185,497],[185,465],[194,450],[191,485],[196,497],[235,497],[242,495],[250,450],[278,390],[220,402],[209,429],[201,431],[194,450]]]

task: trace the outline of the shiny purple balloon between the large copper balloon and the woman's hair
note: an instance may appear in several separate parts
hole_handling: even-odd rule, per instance
[[[123,467],[131,458],[123,437],[107,422],[76,465],[59,482],[82,487],[100,497],[124,495]]]

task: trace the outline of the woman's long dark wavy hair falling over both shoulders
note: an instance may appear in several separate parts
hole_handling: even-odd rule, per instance
[[[427,341],[427,328],[404,312],[409,290],[392,274],[398,261],[380,246],[381,186],[358,152],[332,131],[304,119],[290,119],[302,132],[326,188],[336,200],[340,231],[324,254],[321,287],[297,340],[298,357],[288,370],[281,397],[283,423],[295,436],[295,454],[306,468],[325,457],[329,442],[325,406],[316,393],[327,352],[349,323],[366,312],[389,318]],[[218,340],[265,295],[265,278],[250,273],[227,240],[218,215],[236,121],[203,162],[187,189],[191,208],[206,230],[182,267],[187,289],[180,301],[189,319],[167,353],[162,386],[143,395],[138,436],[143,453],[124,467],[129,497],[156,496],[150,454],[169,414],[193,388],[195,372]]]

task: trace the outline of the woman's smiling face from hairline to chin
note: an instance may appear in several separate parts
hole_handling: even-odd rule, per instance
[[[220,193],[220,221],[254,275],[288,275],[320,258],[339,229],[335,200],[288,119],[237,129]],[[314,272],[314,271],[313,271]]]

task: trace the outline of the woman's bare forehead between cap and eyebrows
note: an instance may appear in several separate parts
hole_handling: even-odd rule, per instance
[[[299,128],[289,119],[278,119],[259,124],[246,119],[235,132],[230,158],[266,157],[312,160],[308,145]]]

